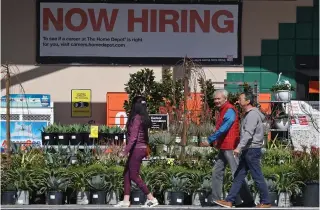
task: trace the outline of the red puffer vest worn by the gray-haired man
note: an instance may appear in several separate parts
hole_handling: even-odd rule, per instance
[[[232,124],[229,131],[222,134],[222,136],[219,138],[218,141],[216,141],[216,147],[218,149],[224,149],[224,150],[234,150],[240,141],[240,130],[239,130],[239,118],[238,118],[238,111],[235,109],[235,107],[230,104],[229,102],[226,102],[220,107],[220,112],[218,115],[218,119],[216,121],[216,130],[218,130],[223,122],[223,116],[226,114],[228,109],[233,109],[236,113],[236,120]]]

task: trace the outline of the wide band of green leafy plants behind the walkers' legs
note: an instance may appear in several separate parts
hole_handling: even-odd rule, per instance
[[[160,142],[163,143],[163,142]],[[169,145],[170,147],[176,147]],[[168,146],[168,147],[169,147]],[[59,149],[59,148],[58,148]],[[109,148],[110,149],[110,148]],[[57,150],[57,148],[55,149]],[[117,153],[115,148],[112,148]],[[120,151],[120,150],[119,150]],[[70,151],[69,151],[70,152]],[[113,191],[120,196],[123,193],[123,171],[125,163],[110,153],[94,152],[77,153],[90,156],[85,159],[78,156],[77,165],[53,164],[52,154],[63,154],[57,151],[28,149],[12,155],[10,164],[6,155],[1,156],[1,190],[29,190],[44,193],[45,191],[64,192],[66,188],[77,191],[89,189]],[[203,150],[187,152],[183,160],[151,160],[142,165],[141,177],[150,190],[163,194],[164,191],[195,191],[210,192],[212,160],[217,150],[210,150],[205,154]],[[64,156],[66,158],[68,156]],[[118,158],[118,159],[117,159]],[[120,161],[121,160],[121,161]],[[272,143],[264,153],[262,170],[268,184],[269,191],[286,191],[292,195],[299,194],[304,183],[319,180],[319,149],[311,148],[304,151],[290,151],[288,148]],[[229,168],[224,176],[224,192],[228,192],[232,183],[232,174]],[[256,190],[252,178],[249,176],[251,189]]]

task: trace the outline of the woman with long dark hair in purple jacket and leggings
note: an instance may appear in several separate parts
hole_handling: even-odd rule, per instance
[[[148,129],[150,125],[151,121],[147,111],[145,97],[134,97],[126,125],[128,141],[125,149],[120,153],[120,156],[129,154],[124,170],[124,199],[115,205],[115,207],[130,206],[131,180],[147,195],[147,201],[144,207],[153,207],[159,204],[158,200],[153,197],[139,175],[142,159],[146,157],[148,153]]]

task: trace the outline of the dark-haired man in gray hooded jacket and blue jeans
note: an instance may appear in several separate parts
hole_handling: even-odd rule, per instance
[[[254,96],[252,93],[242,93],[239,97],[239,104],[245,111],[241,122],[240,143],[233,151],[235,156],[240,156],[240,162],[230,192],[225,200],[214,201],[216,204],[231,208],[236,196],[245,181],[248,170],[255,181],[261,195],[258,208],[270,208],[268,187],[261,170],[261,148],[263,147],[265,116],[253,107]]]

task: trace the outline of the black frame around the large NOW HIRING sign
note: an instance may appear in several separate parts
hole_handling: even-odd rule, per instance
[[[89,56],[40,56],[40,4],[41,3],[88,3],[88,0],[37,0],[36,3],[36,63],[37,64],[69,64],[69,65],[175,65],[183,57],[89,57]],[[237,58],[227,60],[227,58],[191,58],[201,65],[241,65],[241,28],[242,28],[242,1],[213,1],[213,2],[134,2],[134,1],[116,1],[92,0],[90,3],[117,3],[117,4],[205,4],[205,5],[238,5],[238,52]],[[188,55],[186,55],[188,56]]]

